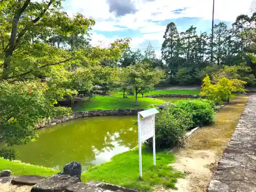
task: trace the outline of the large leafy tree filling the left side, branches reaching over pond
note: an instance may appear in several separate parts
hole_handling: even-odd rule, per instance
[[[1,1],[0,23],[0,142],[7,145],[33,140],[38,120],[69,113],[56,107],[57,101],[90,92],[94,69],[103,59],[119,59],[130,41],[117,39],[104,49],[90,46],[94,20],[79,13],[69,17],[60,0]],[[100,70],[103,76],[109,72]],[[102,86],[110,89],[110,83]]]

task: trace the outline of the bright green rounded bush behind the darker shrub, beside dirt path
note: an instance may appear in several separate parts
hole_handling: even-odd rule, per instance
[[[194,126],[210,124],[215,118],[215,104],[207,99],[183,100],[176,102],[178,108],[191,114]]]

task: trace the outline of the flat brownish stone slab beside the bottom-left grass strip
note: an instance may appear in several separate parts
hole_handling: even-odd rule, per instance
[[[45,179],[46,177],[36,175],[23,175],[13,178],[11,183],[15,185],[35,185],[36,183],[42,182]]]

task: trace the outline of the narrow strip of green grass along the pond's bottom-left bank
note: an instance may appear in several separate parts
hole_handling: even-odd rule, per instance
[[[39,175],[49,177],[53,174],[59,173],[59,170],[52,168],[45,168],[37,165],[30,165],[25,163],[20,163],[18,161],[8,161],[0,158],[0,170],[10,169],[12,175]]]

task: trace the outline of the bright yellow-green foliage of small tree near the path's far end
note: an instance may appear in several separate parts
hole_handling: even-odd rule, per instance
[[[239,79],[228,79],[218,77],[217,82],[212,84],[208,75],[203,79],[200,95],[207,96],[208,99],[217,103],[230,101],[232,92],[245,92],[246,82]]]

